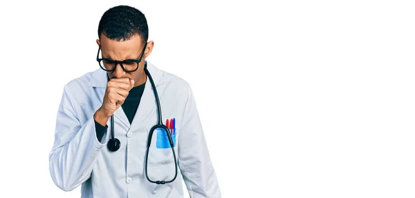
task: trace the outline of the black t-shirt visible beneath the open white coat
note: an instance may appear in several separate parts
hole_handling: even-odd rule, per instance
[[[138,104],[140,104],[142,92],[144,92],[145,83],[140,86],[133,87],[125,99],[124,103],[122,103],[122,110],[124,111],[125,115],[128,118],[129,123],[133,121],[134,115],[136,115]],[[94,120],[95,121],[95,120]],[[95,130],[97,133],[98,141],[101,141],[102,137],[104,136],[105,131],[107,130],[108,126],[102,126],[100,123],[95,121]]]

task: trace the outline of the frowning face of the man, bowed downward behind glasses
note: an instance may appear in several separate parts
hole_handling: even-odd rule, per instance
[[[143,70],[145,58],[149,56],[153,41],[145,44],[142,43],[141,37],[137,34],[131,37],[127,41],[111,40],[104,34],[101,34],[100,40],[97,39],[98,46],[101,45],[101,55],[103,58],[112,59],[114,61],[123,61],[124,59],[140,59],[142,50],[145,50],[144,55],[140,63],[138,63],[138,69],[134,72],[125,72],[122,70],[120,64],[117,64],[116,70],[107,72],[110,79],[113,78],[129,78],[135,81],[134,86],[139,86],[145,83],[147,77]]]

